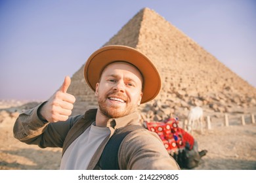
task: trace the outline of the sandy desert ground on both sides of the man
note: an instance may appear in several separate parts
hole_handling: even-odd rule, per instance
[[[239,119],[230,120],[226,127],[221,118],[216,118],[211,122],[212,129],[193,134],[200,150],[208,151],[194,169],[256,169],[256,124],[251,123],[249,116],[245,117],[245,125]],[[0,124],[0,169],[58,169],[61,149],[41,149],[14,139],[14,120]]]

